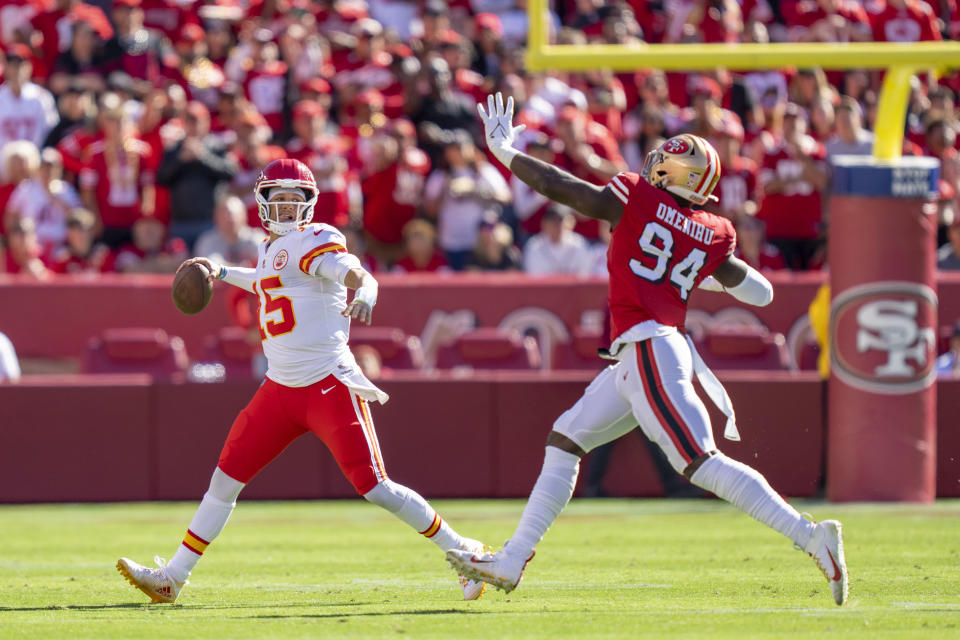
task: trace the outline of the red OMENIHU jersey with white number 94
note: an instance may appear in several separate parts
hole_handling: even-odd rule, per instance
[[[727,219],[678,207],[636,173],[609,183],[623,204],[607,250],[611,337],[646,320],[683,330],[690,293],[733,253]]]

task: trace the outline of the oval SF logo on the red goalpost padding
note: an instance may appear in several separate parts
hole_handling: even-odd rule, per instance
[[[830,362],[852,387],[883,394],[920,391],[936,372],[937,295],[913,282],[874,282],[834,298]]]

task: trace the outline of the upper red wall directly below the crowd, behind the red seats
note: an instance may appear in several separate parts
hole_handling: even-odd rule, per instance
[[[772,273],[774,302],[764,308],[742,305],[730,296],[692,297],[688,325],[711,322],[763,324],[799,338],[807,307],[824,281],[821,273]],[[537,331],[541,343],[563,342],[581,324],[598,322],[606,298],[600,279],[516,275],[378,275],[381,298],[376,324],[419,336],[425,348],[445,330],[469,326],[513,326]],[[227,285],[218,284],[210,307],[185,316],[170,300],[171,276],[104,275],[51,282],[0,274],[0,331],[26,358],[79,358],[87,340],[111,327],[162,327],[184,339],[191,357],[203,353],[204,339],[232,324]],[[940,324],[960,319],[960,273],[938,278]]]

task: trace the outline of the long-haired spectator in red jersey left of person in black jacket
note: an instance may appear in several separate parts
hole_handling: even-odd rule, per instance
[[[81,195],[100,219],[103,241],[119,247],[130,241],[133,222],[155,211],[150,147],[136,137],[116,94],[101,100],[100,128],[103,138],[90,145],[90,163],[80,173]]]

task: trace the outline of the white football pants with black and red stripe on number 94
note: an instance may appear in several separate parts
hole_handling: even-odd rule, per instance
[[[553,430],[584,451],[616,440],[637,424],[682,473],[716,449],[706,407],[693,388],[693,358],[680,333],[626,345]]]

